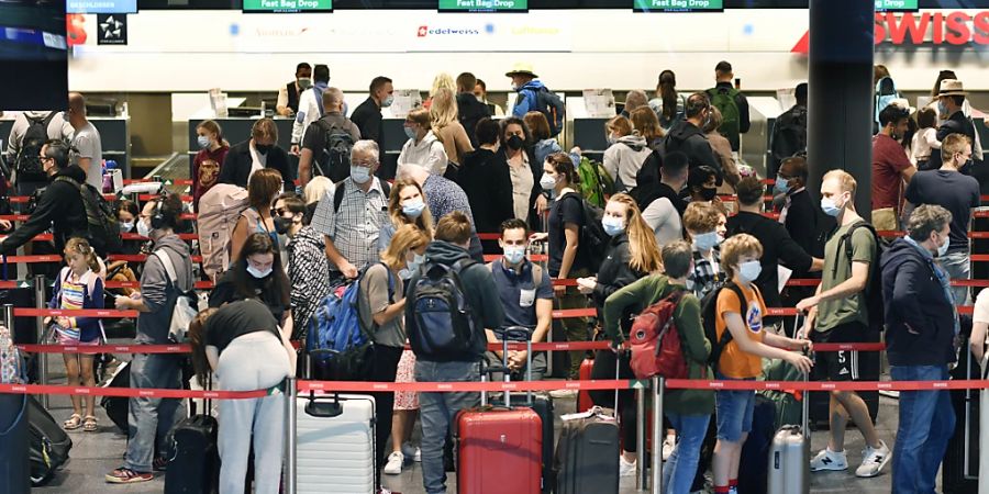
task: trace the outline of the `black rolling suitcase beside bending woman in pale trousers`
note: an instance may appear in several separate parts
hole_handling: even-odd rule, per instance
[[[209,383],[208,383],[209,384]],[[208,385],[207,389],[212,386]],[[210,401],[205,409],[210,411]],[[280,427],[281,425],[277,425]],[[178,423],[169,433],[171,451],[165,472],[165,494],[213,494],[220,486],[219,424],[208,414]]]

